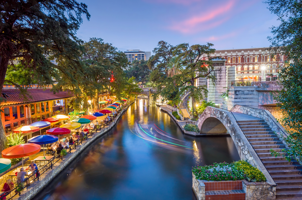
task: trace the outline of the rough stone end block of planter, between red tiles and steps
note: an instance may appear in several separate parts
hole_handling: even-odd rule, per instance
[[[242,188],[246,193],[246,200],[276,199],[276,186],[272,186],[268,182],[247,182],[243,180]]]

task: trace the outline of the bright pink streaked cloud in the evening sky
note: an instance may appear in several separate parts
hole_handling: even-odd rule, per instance
[[[229,0],[218,8],[208,9],[208,11],[203,12],[200,15],[195,15],[184,21],[175,22],[172,26],[169,27],[169,29],[188,34],[196,33],[204,29],[217,27],[229,19],[229,17],[226,17],[225,14],[229,12],[234,5],[235,0]],[[220,19],[218,21],[215,21],[217,20],[217,18]]]

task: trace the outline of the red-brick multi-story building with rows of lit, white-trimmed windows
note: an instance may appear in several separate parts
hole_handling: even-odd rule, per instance
[[[266,80],[275,77],[284,64],[284,56],[273,56],[268,48],[216,50],[210,56],[225,59],[227,68],[235,68],[234,80]],[[204,60],[207,60],[204,55]]]

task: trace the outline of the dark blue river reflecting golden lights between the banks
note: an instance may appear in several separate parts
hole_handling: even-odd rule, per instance
[[[34,199],[191,200],[192,166],[236,160],[230,136],[184,135],[154,102],[139,98]]]

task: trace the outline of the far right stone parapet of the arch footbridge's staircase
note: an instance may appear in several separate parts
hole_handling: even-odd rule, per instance
[[[267,110],[251,108],[242,105],[235,105],[231,110],[232,112],[239,112],[246,115],[250,115],[253,117],[257,117],[263,119],[272,131],[276,133],[279,139],[287,146],[282,137],[287,137],[288,133],[286,133],[284,127],[275,119],[275,117]],[[288,147],[288,146],[287,146]]]

